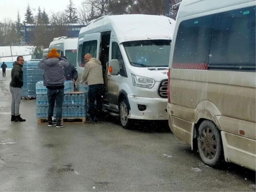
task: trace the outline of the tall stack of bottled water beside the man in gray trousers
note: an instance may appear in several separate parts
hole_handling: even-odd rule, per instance
[[[22,97],[36,97],[36,82],[44,78],[44,70],[38,68],[38,62],[39,60],[24,62]]]

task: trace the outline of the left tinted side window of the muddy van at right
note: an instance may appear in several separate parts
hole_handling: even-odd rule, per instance
[[[180,23],[172,68],[189,68],[191,64],[208,63],[214,20],[215,15],[208,15]]]

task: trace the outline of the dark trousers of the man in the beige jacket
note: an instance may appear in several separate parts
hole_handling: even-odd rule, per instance
[[[104,93],[104,85],[103,84],[95,84],[89,85],[88,92],[88,120],[94,121],[94,117],[100,119],[101,111],[102,111],[102,100]],[[94,106],[94,102],[96,100],[96,108]]]

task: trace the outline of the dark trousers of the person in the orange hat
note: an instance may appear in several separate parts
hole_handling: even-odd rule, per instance
[[[48,121],[52,121],[54,104],[56,102],[56,123],[61,123],[62,104],[64,99],[64,89],[47,89],[48,96]]]

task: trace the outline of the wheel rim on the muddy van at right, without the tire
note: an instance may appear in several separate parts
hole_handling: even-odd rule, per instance
[[[217,142],[215,135],[210,127],[205,127],[200,135],[201,149],[204,156],[208,159],[212,159],[217,150]]]

